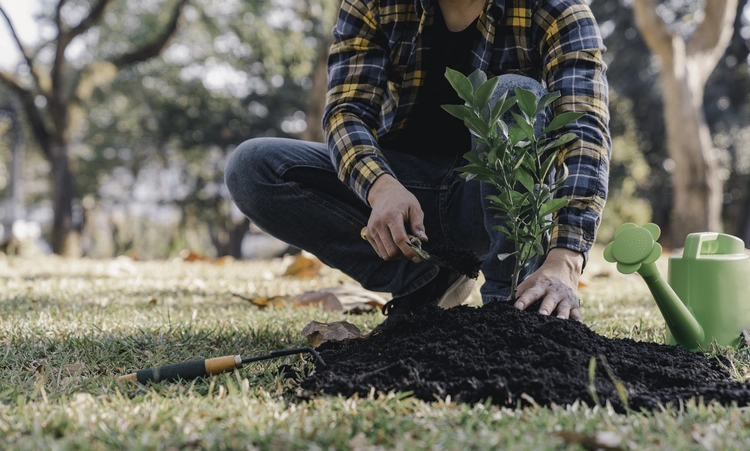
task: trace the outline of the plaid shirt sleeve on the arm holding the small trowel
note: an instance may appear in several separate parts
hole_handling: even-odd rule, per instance
[[[379,176],[395,177],[376,138],[389,53],[372,0],[344,0],[333,38],[323,129],[339,179],[367,203]]]

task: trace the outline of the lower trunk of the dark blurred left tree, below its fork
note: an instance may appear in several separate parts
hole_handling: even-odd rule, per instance
[[[80,249],[75,249],[78,240],[73,229],[73,177],[67,144],[57,145],[52,155],[52,251],[58,255],[76,256]]]

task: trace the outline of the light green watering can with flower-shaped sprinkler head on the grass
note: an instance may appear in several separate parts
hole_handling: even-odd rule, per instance
[[[737,346],[750,329],[750,258],[745,243],[723,233],[691,233],[682,256],[669,258],[669,283],[656,268],[656,224],[621,225],[604,258],[623,274],[638,272],[667,323],[667,343],[691,351],[714,340]]]

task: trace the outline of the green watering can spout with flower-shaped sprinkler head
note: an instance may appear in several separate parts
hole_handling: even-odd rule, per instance
[[[661,277],[656,260],[661,245],[656,242],[661,231],[656,224],[638,227],[627,223],[615,232],[615,239],[604,249],[604,258],[617,263],[624,274],[638,272],[656,300],[674,340],[688,349],[696,349],[705,341],[705,332],[672,287]]]

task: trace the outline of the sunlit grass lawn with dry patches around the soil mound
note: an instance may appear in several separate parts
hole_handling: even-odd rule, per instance
[[[666,274],[665,262],[660,264]],[[193,383],[134,386],[116,377],[196,358],[305,346],[310,321],[369,331],[380,314],[259,309],[245,297],[299,294],[347,278],[281,277],[284,262],[133,262],[0,256],[0,449],[750,449],[750,411],[704,406],[619,415],[606,406],[523,410],[408,394],[297,399],[279,365],[251,364]],[[638,276],[592,259],[586,323],[607,337],[663,341]],[[478,303],[478,295],[471,302]],[[737,380],[747,350],[731,357]]]

